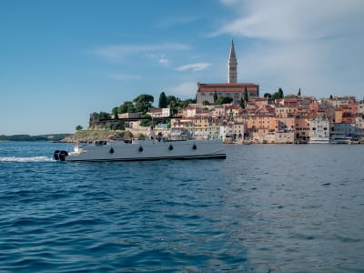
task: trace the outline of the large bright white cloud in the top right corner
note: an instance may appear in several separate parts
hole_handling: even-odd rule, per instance
[[[232,4],[230,4],[232,5]],[[230,34],[269,40],[303,40],[346,35],[362,29],[361,0],[245,1],[234,6],[240,16],[216,35]]]

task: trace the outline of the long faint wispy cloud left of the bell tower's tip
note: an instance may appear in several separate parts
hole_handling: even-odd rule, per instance
[[[160,45],[105,45],[100,46],[87,52],[105,58],[108,61],[120,61],[126,56],[136,54],[156,54],[161,52],[188,50],[190,47],[186,44],[160,44]]]

